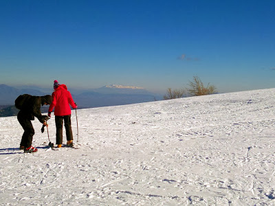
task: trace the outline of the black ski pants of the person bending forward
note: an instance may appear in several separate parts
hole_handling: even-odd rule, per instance
[[[29,116],[21,111],[17,115],[17,119],[24,130],[20,146],[24,146],[25,148],[32,146],[32,137],[34,137],[34,127],[32,126],[32,122],[30,122]]]

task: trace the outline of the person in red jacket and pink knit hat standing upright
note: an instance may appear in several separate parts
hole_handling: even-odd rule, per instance
[[[71,126],[72,112],[69,104],[72,108],[77,108],[71,93],[67,90],[67,86],[65,84],[59,84],[57,80],[54,80],[54,92],[52,93],[52,104],[50,104],[48,116],[51,117],[51,113],[54,110],[56,121],[56,144],[58,148],[61,148],[63,142],[63,121],[66,130],[67,146],[74,146]]]

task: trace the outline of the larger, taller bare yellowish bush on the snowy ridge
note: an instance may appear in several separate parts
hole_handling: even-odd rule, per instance
[[[201,79],[198,76],[194,76],[193,81],[189,81],[187,92],[190,96],[200,96],[217,93],[217,89],[209,83],[207,87],[204,87],[203,82],[201,82]]]

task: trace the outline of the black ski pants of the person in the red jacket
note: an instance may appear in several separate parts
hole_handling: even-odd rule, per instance
[[[56,119],[56,144],[63,143],[63,121],[66,130],[67,141],[73,140],[71,115],[55,116]]]

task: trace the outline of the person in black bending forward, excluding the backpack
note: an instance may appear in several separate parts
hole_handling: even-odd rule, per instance
[[[23,127],[24,133],[21,139],[20,149],[24,152],[37,152],[37,148],[32,146],[32,137],[34,136],[34,128],[32,126],[31,120],[34,117],[39,119],[44,126],[46,126],[47,115],[41,114],[41,106],[48,105],[52,103],[52,96],[32,96],[28,100],[25,100],[23,107],[17,115],[17,119],[21,126]]]

